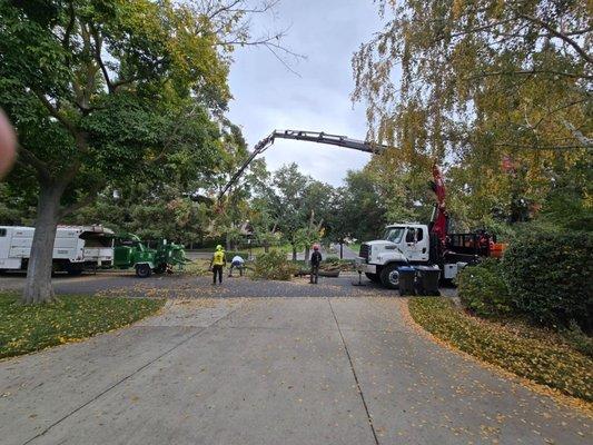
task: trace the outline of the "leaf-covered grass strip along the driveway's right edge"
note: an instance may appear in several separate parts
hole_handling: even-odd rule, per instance
[[[465,353],[593,402],[593,358],[575,350],[554,332],[518,322],[486,322],[465,314],[445,298],[412,298],[409,313],[426,330]]]

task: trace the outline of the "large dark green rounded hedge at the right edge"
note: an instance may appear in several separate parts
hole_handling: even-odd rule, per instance
[[[591,333],[593,235],[532,229],[515,238],[503,270],[516,307],[537,323],[567,326],[575,320]]]

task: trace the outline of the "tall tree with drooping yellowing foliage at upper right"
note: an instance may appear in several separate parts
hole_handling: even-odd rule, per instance
[[[583,1],[378,1],[386,21],[353,66],[370,135],[463,166],[452,190],[475,220],[520,218],[592,144],[591,6]],[[471,190],[471,194],[468,194]],[[472,195],[484,201],[465,199]]]

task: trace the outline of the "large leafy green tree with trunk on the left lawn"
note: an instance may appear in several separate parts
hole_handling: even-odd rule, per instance
[[[52,245],[67,214],[112,180],[166,175],[162,161],[188,147],[211,158],[216,147],[186,126],[229,98],[218,43],[185,3],[0,0],[0,105],[39,185],[24,303],[53,298]]]

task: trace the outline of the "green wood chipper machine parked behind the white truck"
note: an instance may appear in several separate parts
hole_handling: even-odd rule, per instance
[[[140,278],[147,278],[152,273],[164,274],[172,270],[174,266],[182,268],[190,260],[186,258],[184,246],[167,243],[166,239],[159,240],[157,248],[151,249],[134,234],[119,234],[115,237],[113,267],[134,267]]]

